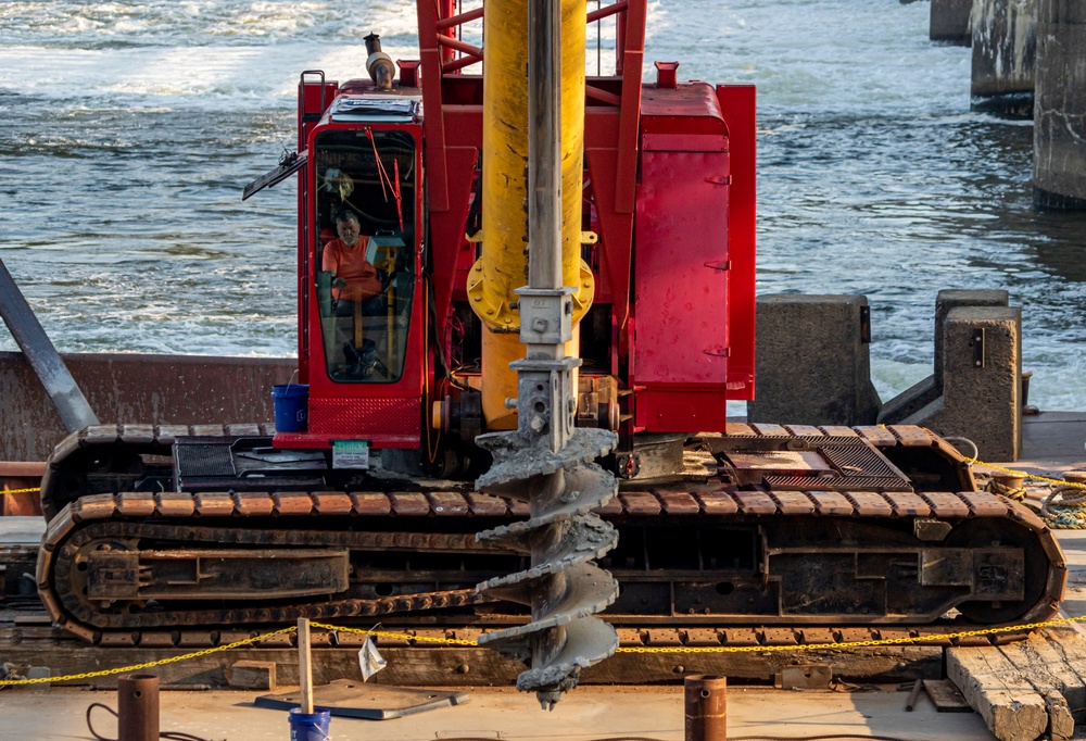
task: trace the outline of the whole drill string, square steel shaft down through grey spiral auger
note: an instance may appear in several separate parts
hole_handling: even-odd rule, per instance
[[[476,438],[493,455],[479,488],[527,500],[531,514],[526,522],[477,536],[531,556],[528,569],[478,587],[528,605],[531,621],[485,633],[479,642],[530,664],[517,688],[534,690],[544,709],[553,709],[561,693],[577,686],[581,669],[618,648],[615,629],[594,616],[618,596],[618,582],[592,563],[618,542],[615,528],[592,512],[618,489],[615,477],[593,463],[610,452],[617,436],[574,428],[573,374],[581,361],[566,356],[573,338],[574,289],[564,271],[579,260],[564,260],[570,256],[564,246],[578,250],[580,240],[563,234],[560,4],[528,3],[528,286],[515,291],[526,354],[509,364],[517,372],[517,429]],[[579,153],[569,161],[580,169]],[[578,204],[578,213],[565,218],[567,230],[578,237],[579,210]]]

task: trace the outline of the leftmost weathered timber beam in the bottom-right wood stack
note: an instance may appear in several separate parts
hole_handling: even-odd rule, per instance
[[[1035,741],[1048,728],[1045,699],[999,649],[948,649],[947,677],[999,741]]]

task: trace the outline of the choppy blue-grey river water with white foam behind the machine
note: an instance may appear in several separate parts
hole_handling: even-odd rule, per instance
[[[1001,288],[1031,402],[1086,409],[1086,217],[1034,212],[1032,126],[970,113],[927,14],[657,2],[646,78],[758,86],[758,290],[866,294],[884,400],[931,373],[938,290]],[[415,59],[414,25],[405,0],[0,3],[0,259],[58,348],[293,353],[293,190],[241,188],[292,145],[302,70],[363,76],[370,30]]]

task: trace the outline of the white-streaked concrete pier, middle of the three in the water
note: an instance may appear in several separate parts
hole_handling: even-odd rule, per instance
[[[974,111],[1033,115],[1037,0],[973,0]]]

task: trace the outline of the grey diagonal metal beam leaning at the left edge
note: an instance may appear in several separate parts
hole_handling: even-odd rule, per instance
[[[99,424],[79,386],[72,378],[56,348],[41,328],[34,310],[18,290],[15,279],[0,260],[0,317],[15,338],[34,373],[53,400],[56,412],[68,432]]]

